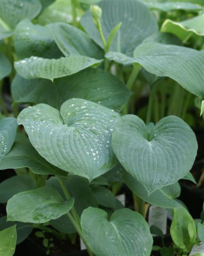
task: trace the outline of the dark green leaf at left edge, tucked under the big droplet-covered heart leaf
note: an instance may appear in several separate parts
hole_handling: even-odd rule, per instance
[[[11,151],[2,159],[0,170],[30,168],[36,174],[67,176],[67,172],[51,165],[41,157],[29,143],[16,142]]]

